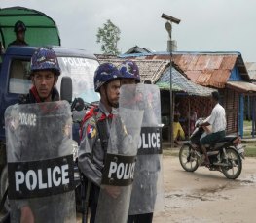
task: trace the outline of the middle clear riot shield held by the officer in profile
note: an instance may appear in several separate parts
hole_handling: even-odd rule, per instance
[[[114,115],[96,211],[96,223],[125,223],[128,219],[137,144],[143,109],[134,86],[122,86],[120,106]],[[132,101],[132,106],[127,106]]]

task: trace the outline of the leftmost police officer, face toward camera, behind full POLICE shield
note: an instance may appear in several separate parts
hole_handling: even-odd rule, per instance
[[[29,90],[29,93],[21,99],[21,104],[30,104],[30,103],[42,103],[42,102],[51,102],[51,101],[58,101],[59,100],[59,93],[55,88],[55,84],[58,80],[58,76],[60,75],[60,67],[57,62],[57,58],[55,55],[55,51],[52,48],[38,48],[31,57],[31,73],[30,78],[32,80],[32,87]],[[55,117],[53,117],[55,119]],[[55,121],[53,125],[55,125]],[[53,126],[49,126],[49,131],[51,131]],[[38,130],[40,131],[40,130]],[[61,130],[59,130],[61,131]],[[52,132],[53,133],[53,132]],[[26,132],[26,134],[29,134]],[[33,133],[30,133],[31,135]],[[54,133],[53,133],[54,134]],[[43,136],[44,133],[41,133],[39,139],[42,137],[44,139],[49,138],[49,136]],[[50,137],[51,134],[49,134]],[[56,134],[54,134],[57,137]],[[40,138],[41,137],[41,138]],[[33,139],[31,139],[32,141]],[[38,140],[40,141],[40,140]],[[51,141],[50,141],[51,142]],[[59,143],[61,143],[59,141]],[[31,146],[31,143],[26,142],[25,144]],[[37,147],[40,144],[37,144]],[[54,151],[55,150],[55,151]],[[18,154],[18,156],[22,156],[22,159],[27,156],[31,156],[33,152],[33,147],[27,149],[27,154],[22,153]],[[51,156],[50,152],[56,152],[56,149],[52,149],[52,151],[48,151],[47,148],[37,149],[36,152],[42,154],[41,157]],[[20,157],[16,157],[17,160]],[[31,205],[30,203],[20,203],[20,222],[34,222],[37,217],[35,216],[35,212],[33,212],[32,208],[35,206]],[[43,219],[42,219],[43,220]],[[54,220],[53,220],[54,221]]]

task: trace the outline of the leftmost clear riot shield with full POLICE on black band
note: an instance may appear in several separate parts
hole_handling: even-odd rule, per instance
[[[76,222],[70,105],[11,106],[5,128],[11,222]]]

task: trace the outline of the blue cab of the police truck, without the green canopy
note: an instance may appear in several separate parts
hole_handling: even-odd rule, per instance
[[[72,98],[82,98],[87,103],[99,100],[98,93],[94,92],[94,71],[99,65],[96,57],[82,49],[51,47],[55,50],[61,74],[57,81],[60,92],[60,83],[63,77],[72,79]],[[7,159],[5,139],[5,111],[10,105],[19,102],[20,97],[29,92],[31,87],[30,59],[37,47],[8,47],[1,55],[0,63],[0,195],[7,187]],[[76,112],[76,111],[74,111]],[[73,118],[81,119],[85,110],[73,113]],[[75,129],[74,129],[75,128]],[[73,139],[79,141],[79,124],[73,126]],[[78,142],[79,143],[79,142]],[[8,208],[8,207],[7,207]]]

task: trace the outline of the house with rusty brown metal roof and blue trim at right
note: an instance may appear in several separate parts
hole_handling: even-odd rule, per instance
[[[167,52],[122,55],[143,60],[170,60]],[[256,93],[239,52],[172,52],[172,61],[193,82],[218,89],[227,114],[227,133],[243,136],[244,97]],[[255,103],[255,100],[254,100]],[[252,105],[255,108],[255,105]],[[201,107],[203,108],[203,107]],[[255,113],[255,111],[254,111]]]

